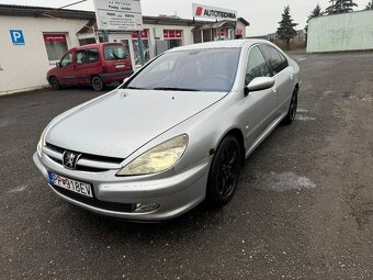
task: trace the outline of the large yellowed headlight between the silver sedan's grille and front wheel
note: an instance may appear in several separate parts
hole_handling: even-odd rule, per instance
[[[149,175],[166,171],[179,161],[187,146],[187,134],[166,141],[131,161],[116,176]]]

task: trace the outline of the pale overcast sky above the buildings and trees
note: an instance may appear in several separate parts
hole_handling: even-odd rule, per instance
[[[79,0],[0,0],[0,3],[60,8],[77,1]],[[355,10],[363,10],[369,1],[354,0],[359,5]],[[237,10],[238,16],[250,22],[246,31],[247,36],[274,33],[287,4],[294,22],[298,23],[296,29],[299,30],[304,29],[308,14],[317,3],[323,10],[329,5],[329,0],[142,0],[142,10],[144,15],[177,14],[183,19],[192,19],[192,2]],[[68,9],[93,11],[93,0]]]

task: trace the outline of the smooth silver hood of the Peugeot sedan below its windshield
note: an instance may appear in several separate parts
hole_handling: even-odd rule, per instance
[[[226,94],[116,90],[52,124],[46,142],[74,152],[126,158]]]

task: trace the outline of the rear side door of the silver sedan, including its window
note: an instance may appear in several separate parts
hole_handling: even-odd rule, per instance
[[[293,93],[293,82],[292,82],[292,74],[289,67],[287,59],[273,46],[270,45],[260,45],[260,49],[262,51],[270,68],[272,71],[272,76],[275,79],[275,90],[278,92],[278,114],[283,112],[283,108],[286,108],[290,102],[290,99]]]

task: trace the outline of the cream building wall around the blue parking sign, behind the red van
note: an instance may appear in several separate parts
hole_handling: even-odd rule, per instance
[[[47,85],[48,60],[43,32],[66,33],[68,48],[79,45],[76,33],[88,20],[0,15],[0,94]],[[13,45],[10,30],[22,30],[25,45]],[[2,69],[2,70],[1,70]]]

